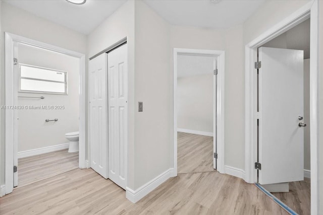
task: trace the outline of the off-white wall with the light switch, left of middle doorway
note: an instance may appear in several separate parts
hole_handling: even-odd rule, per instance
[[[135,1],[135,189],[173,167],[169,25]]]

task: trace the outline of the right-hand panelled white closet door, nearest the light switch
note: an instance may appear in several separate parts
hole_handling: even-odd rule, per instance
[[[109,178],[123,189],[127,179],[127,44],[107,54],[109,94]]]

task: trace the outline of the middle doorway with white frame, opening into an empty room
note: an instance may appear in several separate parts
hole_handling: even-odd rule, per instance
[[[224,51],[174,48],[174,172],[213,169],[224,173]]]

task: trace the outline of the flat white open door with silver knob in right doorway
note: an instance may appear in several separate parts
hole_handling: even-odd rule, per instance
[[[260,184],[304,179],[303,51],[261,47]]]

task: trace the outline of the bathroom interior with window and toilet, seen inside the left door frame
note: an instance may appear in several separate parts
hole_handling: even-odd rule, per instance
[[[18,42],[15,53],[18,175],[14,183],[24,186],[79,167],[80,60]]]

